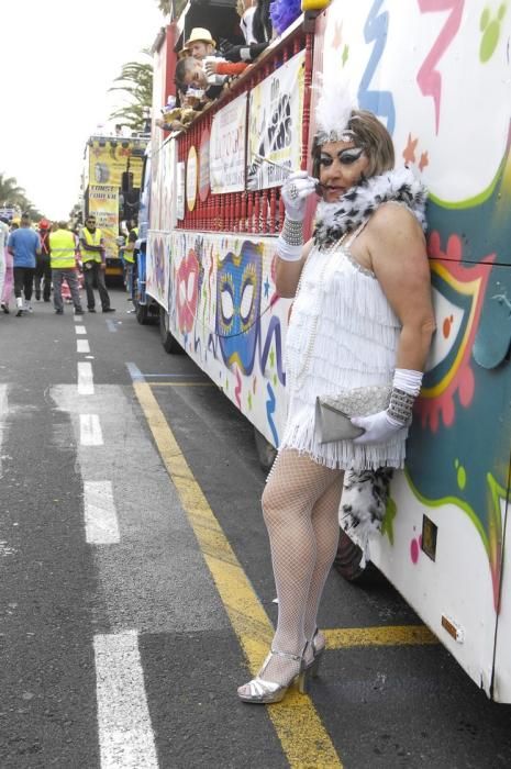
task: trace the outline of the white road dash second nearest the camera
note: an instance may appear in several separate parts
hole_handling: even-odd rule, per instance
[[[84,513],[89,545],[116,545],[121,540],[110,481],[84,481]]]

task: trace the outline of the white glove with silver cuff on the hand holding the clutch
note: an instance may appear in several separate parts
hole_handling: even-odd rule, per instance
[[[353,416],[352,424],[363,427],[365,433],[354,439],[356,444],[387,443],[412,421],[412,409],[421,391],[422,371],[397,368],[389,408],[369,416]]]

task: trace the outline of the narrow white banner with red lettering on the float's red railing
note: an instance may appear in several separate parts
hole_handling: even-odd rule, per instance
[[[245,189],[246,93],[213,118],[210,138],[211,192]]]

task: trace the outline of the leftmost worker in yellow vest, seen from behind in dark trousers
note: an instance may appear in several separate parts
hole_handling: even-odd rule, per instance
[[[66,279],[75,305],[75,315],[81,315],[80,289],[78,276],[76,274],[76,249],[77,241],[75,235],[67,229],[67,222],[58,222],[58,227],[49,233],[49,266],[52,268],[53,303],[57,315],[64,314],[64,302],[62,286]]]

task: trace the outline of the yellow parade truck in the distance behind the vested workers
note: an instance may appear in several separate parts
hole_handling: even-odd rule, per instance
[[[119,253],[120,223],[136,219],[142,185],[142,166],[147,146],[145,134],[130,137],[93,134],[85,148],[84,221],[96,215],[107,250],[108,280],[122,280]]]

